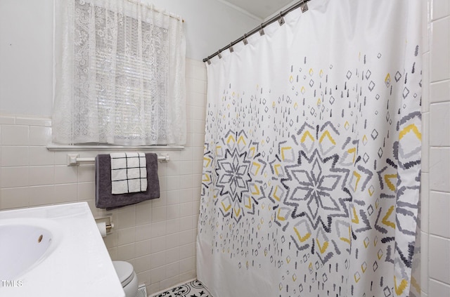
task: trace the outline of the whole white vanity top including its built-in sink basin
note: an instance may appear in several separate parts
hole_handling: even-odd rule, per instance
[[[124,295],[86,202],[0,211],[0,296]]]

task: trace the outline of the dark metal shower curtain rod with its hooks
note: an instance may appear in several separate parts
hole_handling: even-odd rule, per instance
[[[249,37],[252,34],[255,34],[256,32],[259,32],[259,34],[264,35],[264,30],[263,30],[264,27],[270,25],[272,22],[276,22],[278,20],[280,25],[283,25],[284,24],[283,16],[287,15],[288,13],[290,13],[291,11],[294,11],[295,9],[297,9],[299,7],[302,8],[302,13],[304,13],[305,11],[308,10],[308,6],[307,6],[308,1],[311,1],[311,0],[298,1],[297,3],[293,4],[289,8],[286,8],[284,11],[280,11],[280,13],[278,13],[278,15],[274,16],[270,20],[266,20],[266,22],[263,22],[261,25],[259,25],[259,27],[255,27],[255,29],[252,29],[251,31],[247,32],[246,34],[243,34],[242,37],[231,42],[231,44],[229,44],[228,46],[225,46],[225,47],[219,49],[219,51],[213,53],[212,55],[208,55],[207,58],[203,59],[203,62],[211,63],[210,59],[214,58],[216,55],[219,55],[219,58],[221,58],[220,53],[227,49],[230,49],[230,51],[233,52],[233,46],[235,44],[237,44],[240,41],[244,41],[244,44],[247,44],[247,37]]]

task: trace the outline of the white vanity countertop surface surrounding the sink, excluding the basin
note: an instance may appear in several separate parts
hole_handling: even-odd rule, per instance
[[[0,280],[0,296],[124,297],[86,202],[0,211],[0,225],[2,220],[20,222],[20,219],[30,218],[45,218],[56,223],[52,223],[51,230],[54,246],[33,268],[15,279],[8,279],[8,285]]]

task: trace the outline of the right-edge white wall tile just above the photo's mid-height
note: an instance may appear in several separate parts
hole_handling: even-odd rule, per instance
[[[430,105],[430,146],[450,146],[450,101]]]

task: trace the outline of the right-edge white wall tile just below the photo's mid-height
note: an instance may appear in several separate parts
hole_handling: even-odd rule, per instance
[[[450,192],[450,147],[430,148],[430,190]]]

